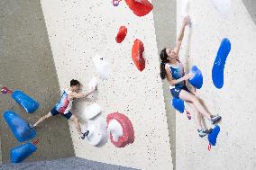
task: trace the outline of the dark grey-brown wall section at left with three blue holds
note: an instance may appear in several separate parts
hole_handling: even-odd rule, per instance
[[[20,89],[40,103],[36,112],[26,113],[10,94],[0,93],[0,162],[5,164],[10,162],[10,150],[24,143],[14,138],[4,112],[13,110],[34,123],[50,112],[59,99],[60,89],[40,0],[3,0],[0,15],[0,88]],[[69,124],[61,117],[43,122],[36,139],[40,139],[38,149],[25,161],[74,157]]]

